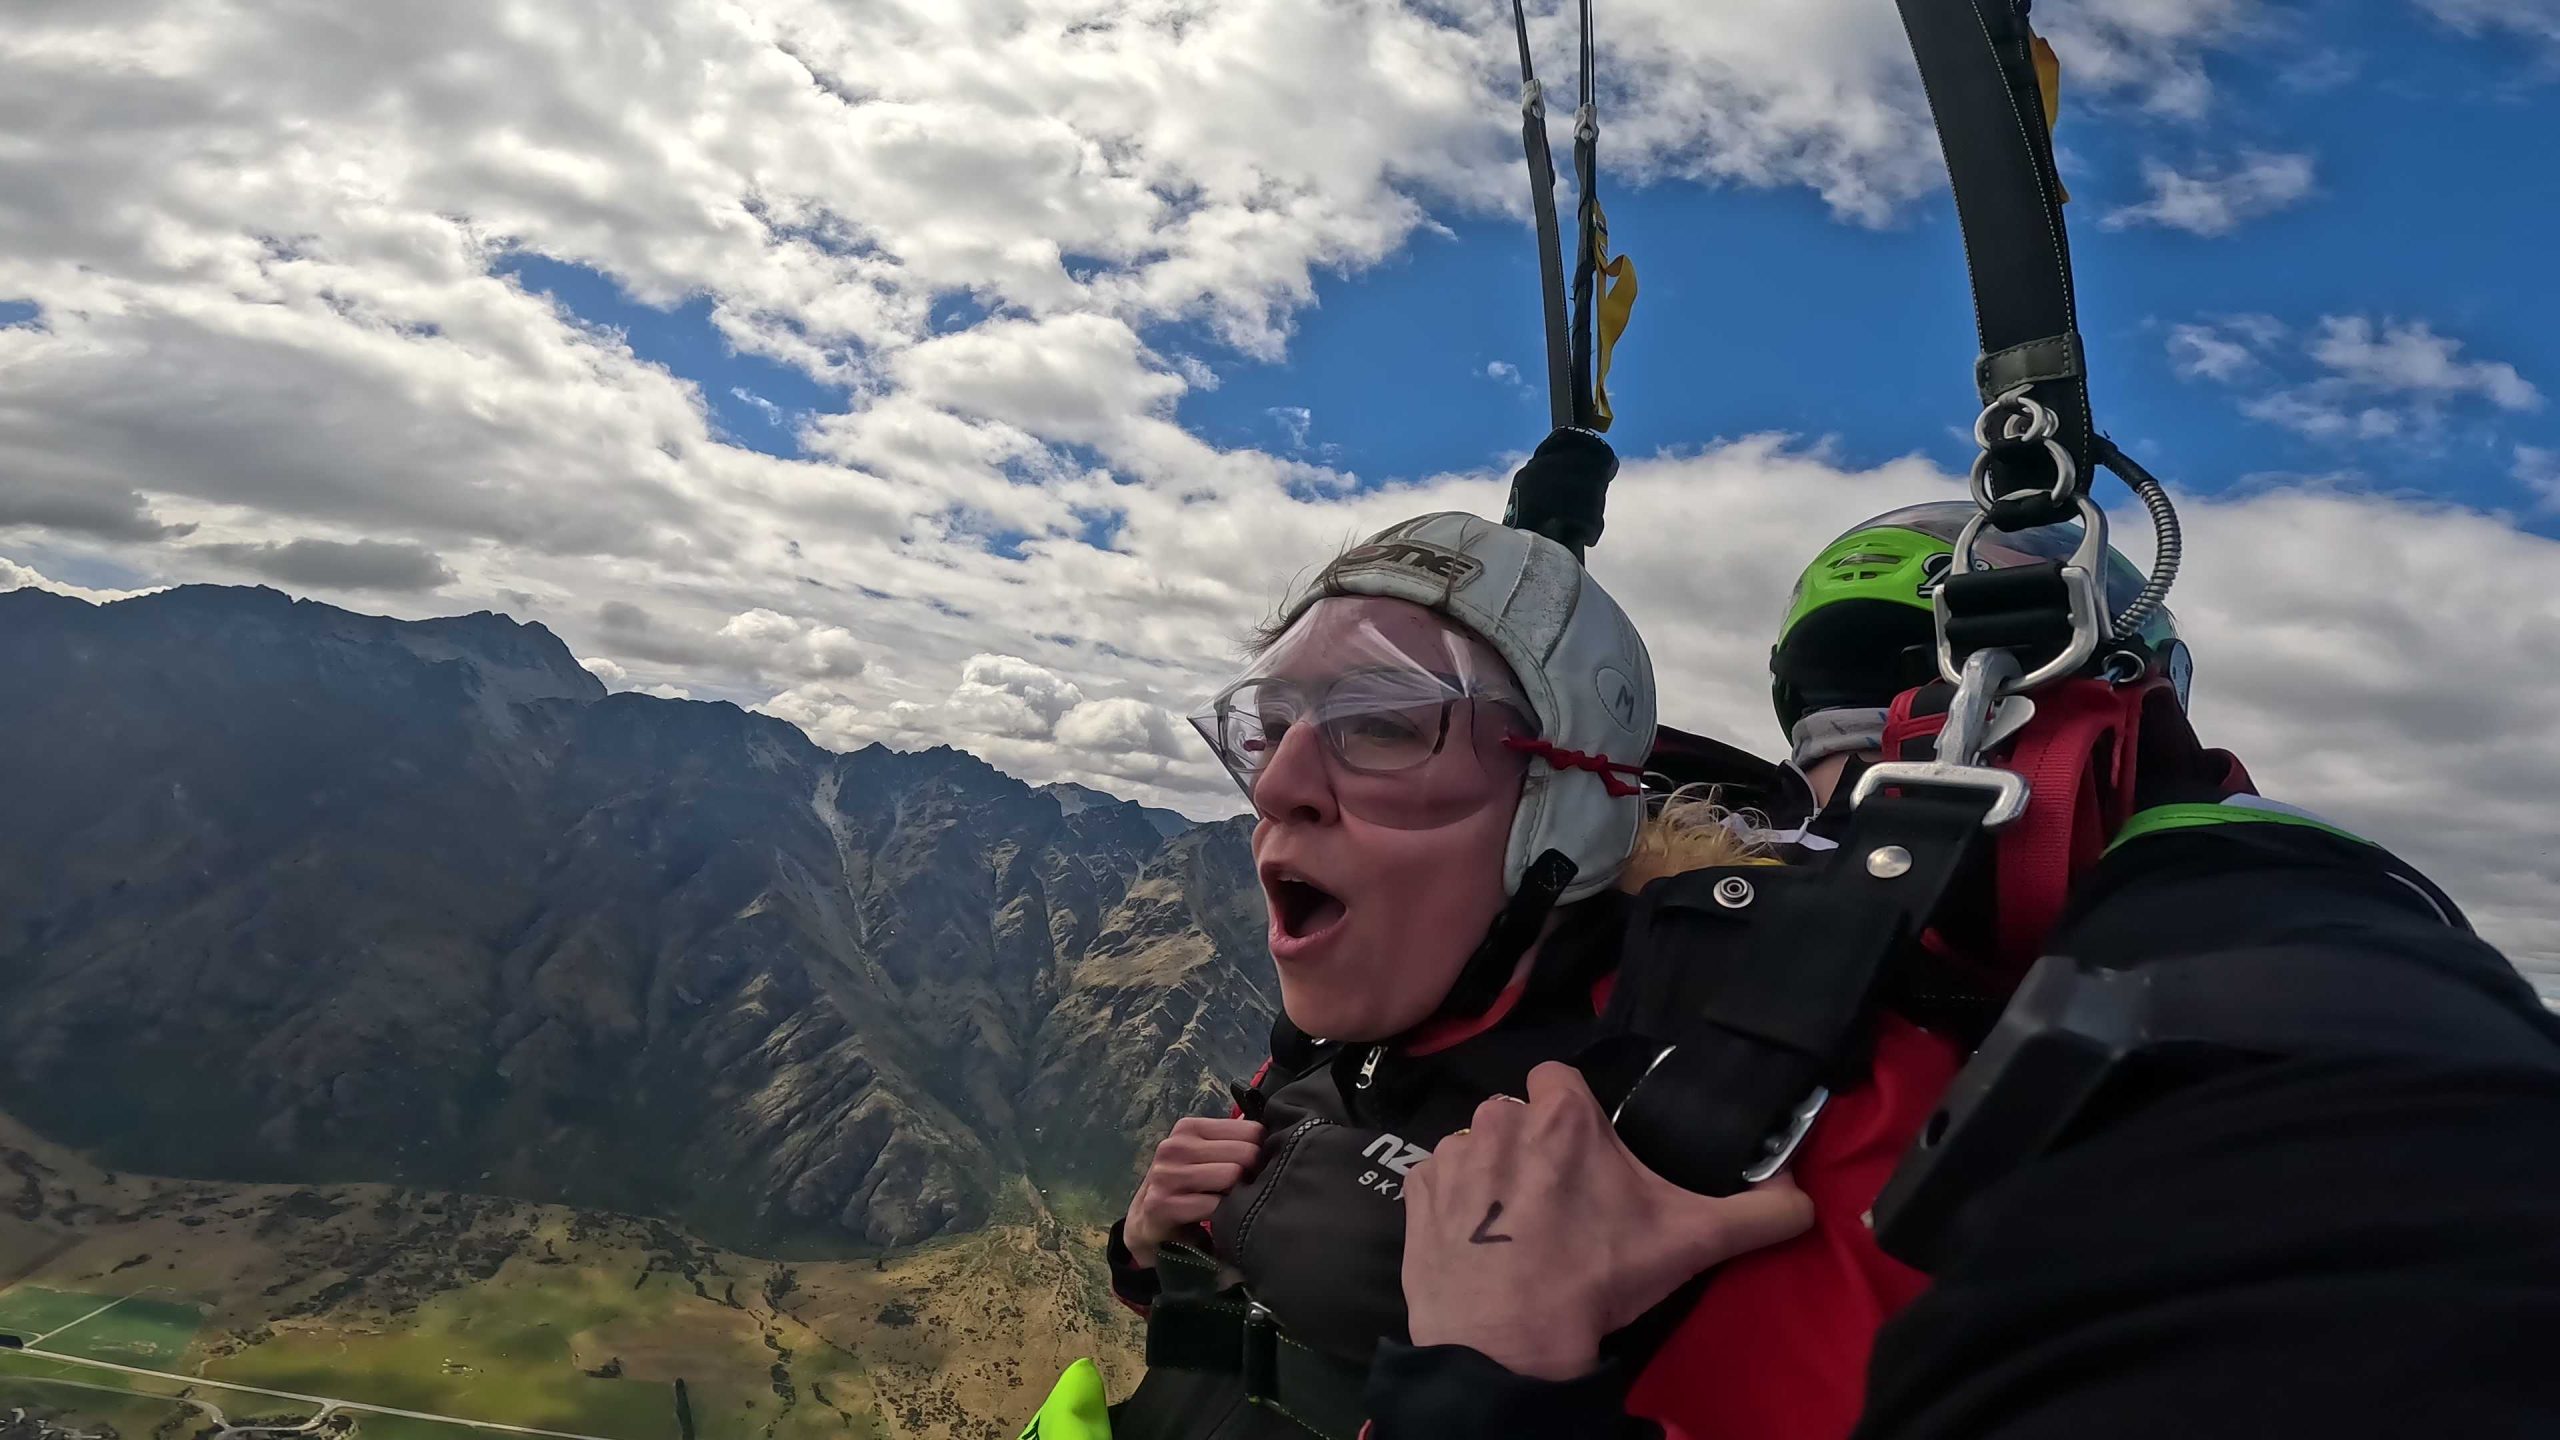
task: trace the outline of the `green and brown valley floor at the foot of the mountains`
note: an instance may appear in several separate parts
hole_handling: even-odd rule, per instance
[[[54,1440],[1006,1440],[1068,1361],[1137,1373],[1101,1235],[1055,1220],[771,1261],[497,1197],[118,1176],[5,1120],[0,1166],[0,1422]]]

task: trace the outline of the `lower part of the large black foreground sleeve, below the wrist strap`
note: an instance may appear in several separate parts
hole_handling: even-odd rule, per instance
[[[2560,1435],[2560,1081],[2227,1074],[1994,1186],[1859,1440]]]

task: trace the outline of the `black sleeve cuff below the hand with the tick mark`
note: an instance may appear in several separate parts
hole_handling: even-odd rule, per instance
[[[1615,1361],[1533,1381],[1464,1345],[1385,1340],[1370,1361],[1370,1440],[1659,1440],[1659,1425],[1626,1412],[1626,1386]]]

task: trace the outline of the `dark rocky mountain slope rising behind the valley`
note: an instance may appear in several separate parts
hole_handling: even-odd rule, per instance
[[[607,694],[540,625],[0,594],[0,1109],[141,1171],[901,1245],[1260,1058],[1239,822]]]

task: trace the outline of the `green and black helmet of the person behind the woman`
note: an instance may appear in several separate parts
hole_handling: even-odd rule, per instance
[[[1823,710],[1879,710],[1938,674],[1930,594],[1956,559],[1956,536],[1976,515],[1971,502],[1905,505],[1853,525],[1805,566],[1787,600],[1787,620],[1769,651],[1777,720],[1792,733]],[[2061,561],[2079,548],[2076,523],[2033,530],[1984,530],[1974,543],[1981,569]],[[2143,571],[2107,548],[2107,612],[2122,615],[2143,589]],[[2125,648],[2125,646],[2120,646]],[[2186,705],[2186,646],[2168,610],[2143,623],[2145,664],[2161,666]]]

